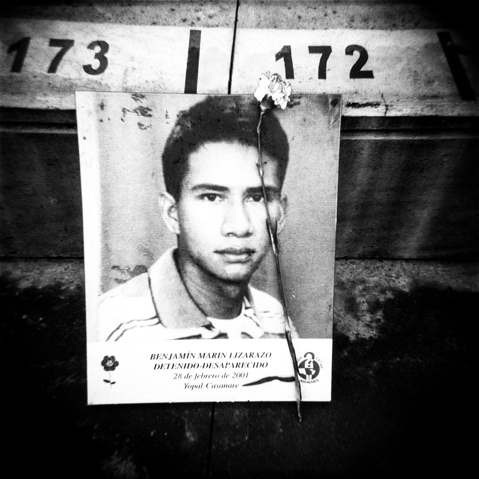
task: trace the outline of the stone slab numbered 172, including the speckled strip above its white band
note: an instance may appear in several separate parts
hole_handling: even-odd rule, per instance
[[[241,1],[231,92],[254,91],[262,72],[285,75],[287,64],[293,95],[341,93],[344,116],[477,116],[479,62],[469,11],[460,2],[441,8],[410,1]],[[450,40],[446,50],[440,32]],[[354,45],[366,54],[361,64],[369,76],[362,79],[345,55]],[[329,48],[320,62],[310,55],[319,46]],[[282,48],[289,52],[284,60]],[[451,59],[459,51],[460,59]]]

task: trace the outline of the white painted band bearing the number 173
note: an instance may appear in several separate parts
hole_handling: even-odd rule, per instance
[[[228,92],[233,28],[0,22],[0,106],[74,109],[75,91],[183,93],[192,30],[201,31],[197,92]],[[55,65],[60,44],[71,47]]]

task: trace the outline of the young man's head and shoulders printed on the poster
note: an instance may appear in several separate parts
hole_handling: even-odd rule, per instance
[[[161,158],[159,195],[178,246],[102,296],[101,339],[284,337],[282,306],[249,284],[271,248],[249,106],[207,97],[178,115]],[[280,231],[289,147],[276,116],[267,120],[266,190]]]

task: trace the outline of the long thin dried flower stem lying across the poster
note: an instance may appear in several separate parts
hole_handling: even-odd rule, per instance
[[[293,369],[295,372],[295,386],[296,386],[296,406],[297,406],[297,414],[298,414],[298,420],[301,422],[301,385],[299,383],[299,376],[298,376],[298,366],[297,366],[297,359],[296,359],[296,352],[295,348],[293,346],[293,341],[291,339],[291,323],[289,321],[289,315],[288,311],[286,308],[286,297],[285,297],[285,290],[283,288],[283,280],[281,278],[281,266],[279,262],[279,247],[278,247],[278,237],[277,237],[277,229],[278,229],[278,223],[276,221],[276,224],[274,225],[274,230],[273,230],[273,223],[271,221],[271,214],[269,210],[269,205],[268,205],[268,198],[266,195],[266,186],[264,184],[264,165],[263,165],[263,160],[262,160],[262,154],[261,154],[261,126],[262,126],[262,120],[263,120],[263,115],[267,111],[266,109],[263,109],[260,104],[260,119],[258,121],[258,127],[256,129],[256,132],[258,133],[258,172],[260,174],[260,179],[261,179],[261,188],[262,188],[262,194],[263,194],[263,200],[264,200],[264,206],[266,209],[266,228],[268,229],[268,233],[270,235],[271,239],[271,247],[273,249],[273,254],[274,254],[274,259],[275,259],[275,264],[276,264],[276,277],[278,278],[278,284],[279,284],[279,291],[280,291],[280,296],[281,296],[281,305],[283,306],[283,315],[285,317],[285,334],[286,334],[286,341],[288,343],[288,348],[289,348],[289,354],[291,354],[291,359],[293,361]]]

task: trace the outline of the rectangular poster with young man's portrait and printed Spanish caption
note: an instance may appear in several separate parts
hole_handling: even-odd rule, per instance
[[[249,95],[77,92],[88,403],[294,401]],[[263,116],[302,399],[331,400],[340,95]]]

